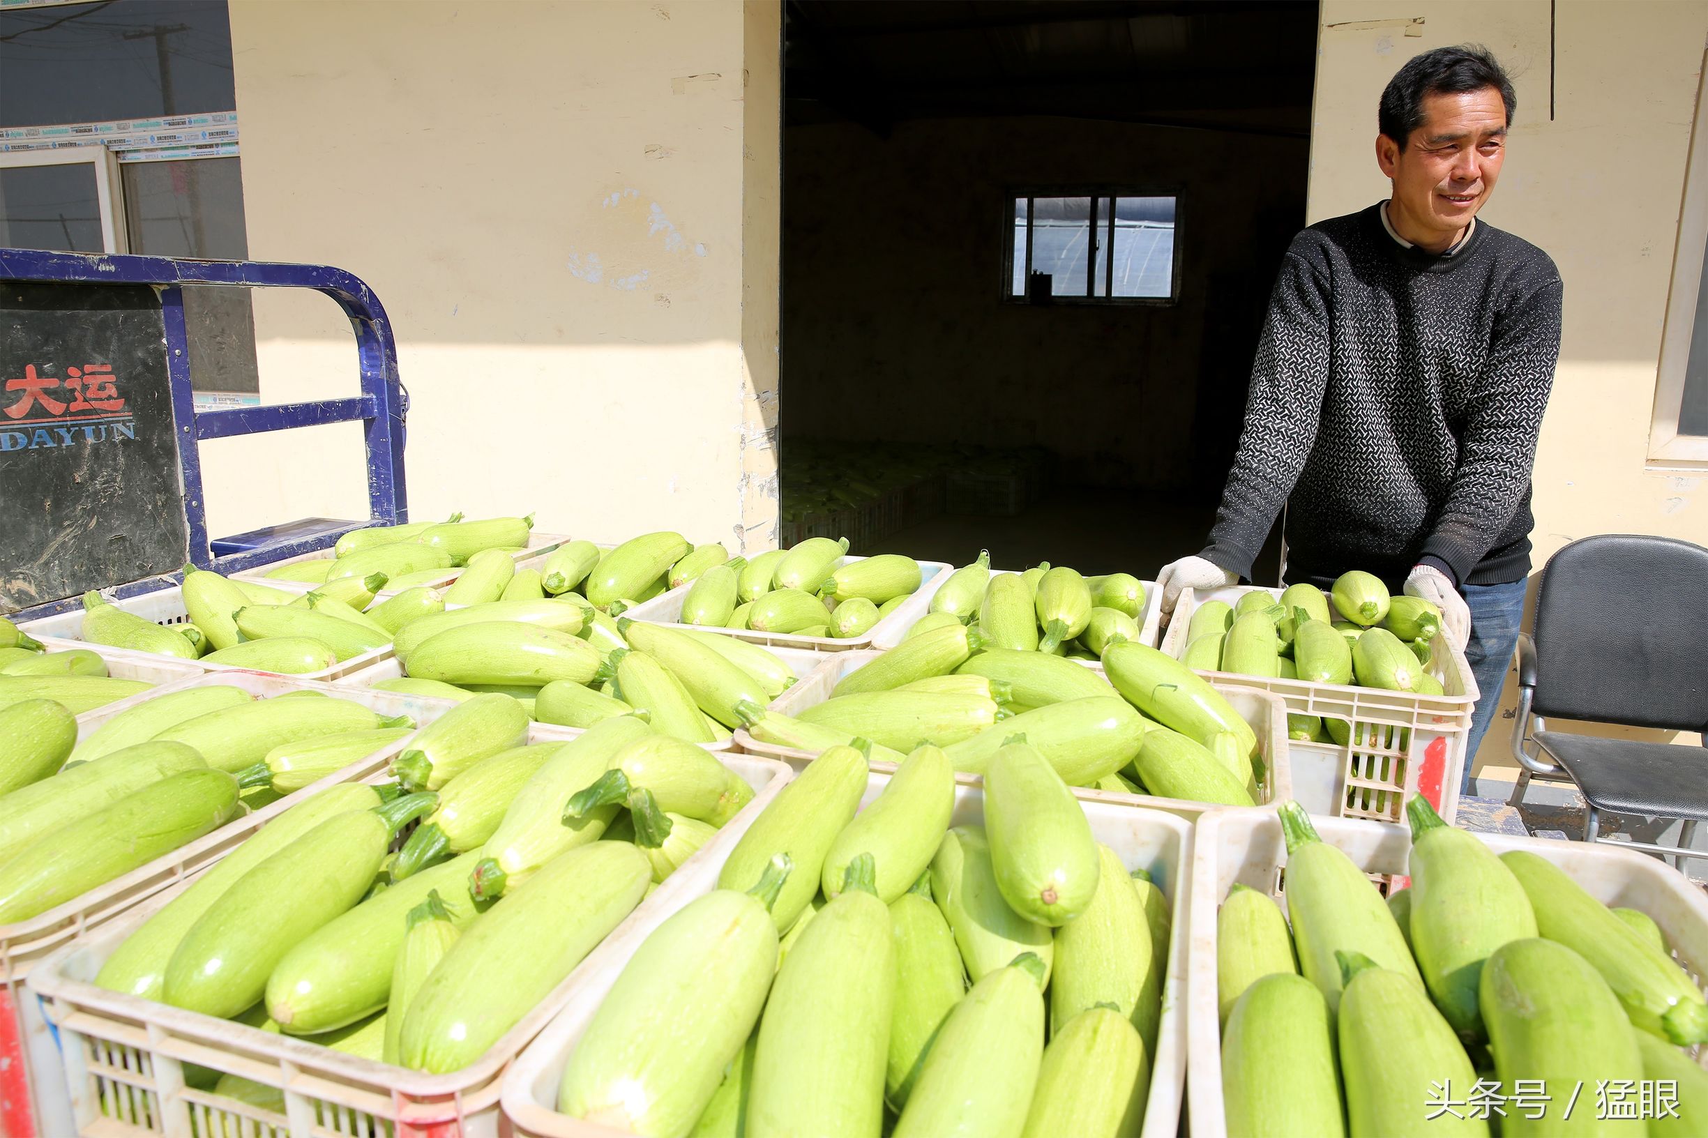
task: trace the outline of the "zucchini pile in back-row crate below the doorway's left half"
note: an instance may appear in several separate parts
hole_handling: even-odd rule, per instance
[[[839,566],[847,548],[847,538],[806,538],[748,560],[729,559],[722,545],[702,545],[671,572],[671,588],[692,581],[681,624],[842,641],[864,636],[919,590],[922,572],[900,554]]]

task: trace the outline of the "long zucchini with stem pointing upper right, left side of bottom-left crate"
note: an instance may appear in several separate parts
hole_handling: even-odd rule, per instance
[[[219,1018],[254,1005],[266,994],[273,965],[362,899],[391,836],[430,807],[429,795],[408,795],[372,810],[335,813],[270,854],[225,889],[178,941],[161,998]]]

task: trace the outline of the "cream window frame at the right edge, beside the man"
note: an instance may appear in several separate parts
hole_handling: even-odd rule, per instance
[[[1708,67],[1708,56],[1703,65]],[[1684,178],[1648,461],[1708,466],[1708,84],[1698,96]]]

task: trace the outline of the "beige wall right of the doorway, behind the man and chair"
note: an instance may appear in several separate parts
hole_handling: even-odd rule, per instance
[[[1404,36],[1399,26],[1418,15],[1423,34]],[[1390,26],[1354,26],[1365,21]],[[1559,0],[1553,73],[1547,0],[1325,0],[1322,22],[1312,220],[1385,197],[1375,104],[1406,58],[1479,41],[1517,72],[1506,166],[1483,217],[1553,255],[1566,285],[1559,371],[1535,461],[1537,569],[1592,533],[1708,543],[1708,472],[1647,466],[1708,3]],[[1481,776],[1515,772],[1512,706],[1508,683]]]

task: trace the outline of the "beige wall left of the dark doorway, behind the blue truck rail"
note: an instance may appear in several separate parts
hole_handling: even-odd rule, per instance
[[[770,533],[750,405],[775,388],[779,21],[232,0],[249,255],[340,265],[386,304],[417,518]],[[354,391],[328,301],[263,297],[256,338],[265,402]],[[214,533],[367,513],[354,425],[205,455]]]

